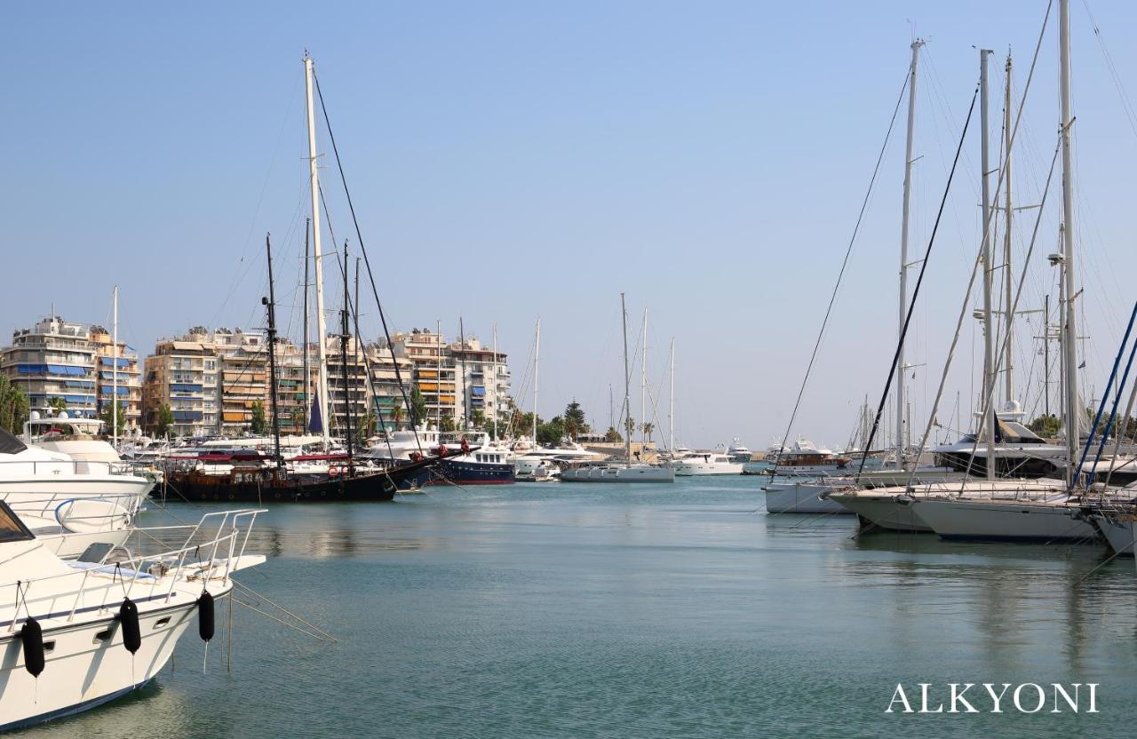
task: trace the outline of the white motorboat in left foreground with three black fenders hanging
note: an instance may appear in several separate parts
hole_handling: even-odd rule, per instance
[[[238,570],[256,510],[207,514],[184,545],[97,562],[53,555],[0,504],[0,731],[68,716],[147,684],[198,615],[213,637],[213,603]],[[219,522],[219,523],[218,523]],[[217,523],[216,533],[206,534]],[[167,529],[168,533],[168,529]],[[208,597],[207,597],[208,593]]]

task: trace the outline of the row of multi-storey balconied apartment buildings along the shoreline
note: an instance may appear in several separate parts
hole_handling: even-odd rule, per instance
[[[504,431],[509,367],[504,352],[478,339],[448,342],[425,329],[362,344],[355,338],[325,339],[330,430],[352,432],[408,429],[415,406],[420,424],[442,430],[499,422]],[[317,347],[288,339],[276,344],[276,402],[283,434],[307,432],[317,376]],[[345,387],[343,358],[347,358]],[[305,365],[308,376],[305,376]],[[121,405],[125,433],[153,433],[168,406],[173,437],[239,437],[272,427],[268,342],[263,332],[193,326],[160,339],[140,362],[124,341],[115,344],[99,325],[40,319],[13,333],[0,350],[0,373],[27,396],[31,410],[53,415],[64,404],[73,417],[98,418],[111,398]],[[117,387],[116,387],[117,374]],[[399,387],[399,379],[406,388]],[[421,397],[421,398],[420,398]]]

